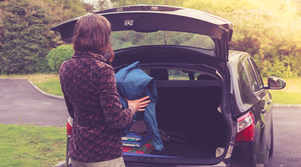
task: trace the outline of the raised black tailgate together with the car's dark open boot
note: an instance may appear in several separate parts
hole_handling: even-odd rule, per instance
[[[166,133],[162,137],[164,150],[124,152],[126,165],[221,162],[231,136],[222,104],[225,82],[229,82],[226,67],[233,24],[202,11],[157,5],[113,8],[95,14],[112,24],[115,72],[139,61],[140,68],[154,77],[156,84],[155,112],[158,128]],[[71,42],[79,18],[50,30]]]

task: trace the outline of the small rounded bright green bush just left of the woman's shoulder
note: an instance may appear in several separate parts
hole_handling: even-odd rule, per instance
[[[64,61],[71,59],[73,53],[74,50],[70,44],[60,45],[50,50],[47,55],[47,60],[51,70],[58,73],[61,64]]]

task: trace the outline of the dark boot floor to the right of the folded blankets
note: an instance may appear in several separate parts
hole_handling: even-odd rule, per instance
[[[151,154],[161,156],[176,156],[187,158],[212,158],[215,157],[216,144],[208,143],[188,143],[181,144],[173,141],[163,142],[162,152],[154,151]]]

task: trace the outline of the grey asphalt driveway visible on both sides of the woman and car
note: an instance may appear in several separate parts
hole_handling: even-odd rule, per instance
[[[25,79],[0,79],[0,123],[65,126],[64,100],[45,96]],[[301,108],[273,108],[274,153],[267,167],[301,167]]]

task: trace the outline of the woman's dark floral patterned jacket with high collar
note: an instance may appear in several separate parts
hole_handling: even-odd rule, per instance
[[[120,128],[132,122],[134,108],[122,110],[110,62],[92,51],[75,51],[61,65],[60,83],[74,119],[69,157],[101,162],[122,156]]]

